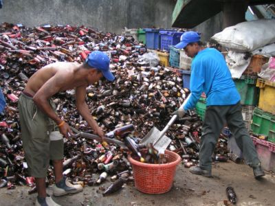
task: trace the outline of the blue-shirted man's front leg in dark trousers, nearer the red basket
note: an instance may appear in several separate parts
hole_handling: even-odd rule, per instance
[[[228,106],[208,106],[203,121],[201,143],[199,149],[199,167],[190,168],[193,174],[211,176],[212,153],[225,124],[225,113]]]

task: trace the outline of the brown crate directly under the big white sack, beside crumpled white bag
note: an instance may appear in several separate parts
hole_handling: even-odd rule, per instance
[[[245,76],[257,76],[257,73],[261,72],[261,67],[268,62],[269,58],[256,54],[252,56],[250,64],[243,72]]]

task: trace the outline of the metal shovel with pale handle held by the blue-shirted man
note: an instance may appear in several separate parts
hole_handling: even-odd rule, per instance
[[[184,104],[181,104],[184,106]],[[180,106],[180,107],[181,107]],[[166,131],[177,119],[177,115],[173,115],[168,124],[164,127],[162,131],[159,131],[155,126],[147,133],[147,135],[140,142],[142,145],[152,143],[154,148],[159,151],[159,153],[164,153],[170,142],[172,141],[169,137],[165,135]]]

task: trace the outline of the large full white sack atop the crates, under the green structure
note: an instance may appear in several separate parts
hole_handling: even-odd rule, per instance
[[[252,52],[275,42],[275,19],[245,21],[211,37],[223,47],[235,52]]]

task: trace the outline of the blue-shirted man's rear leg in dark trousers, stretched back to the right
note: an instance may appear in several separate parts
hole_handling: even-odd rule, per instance
[[[261,162],[255,146],[243,122],[240,103],[231,106],[228,114],[226,115],[226,120],[228,122],[228,127],[236,139],[236,144],[241,149],[241,152],[243,152],[245,162],[254,168],[255,177],[264,176],[265,174],[261,170]]]

